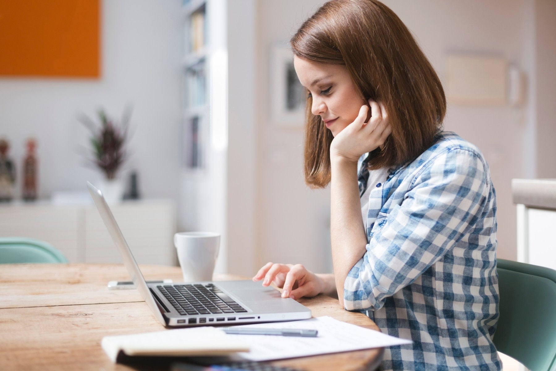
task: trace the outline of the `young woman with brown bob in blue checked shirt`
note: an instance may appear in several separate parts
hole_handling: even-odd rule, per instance
[[[254,280],[337,295],[413,340],[386,349],[383,369],[501,369],[489,168],[441,131],[444,91],[408,28],[376,0],[335,0],[291,46],[308,94],[305,179],[331,188],[334,274],[268,263]]]

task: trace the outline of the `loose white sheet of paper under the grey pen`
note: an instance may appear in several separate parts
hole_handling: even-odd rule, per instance
[[[399,339],[381,332],[341,322],[329,316],[300,321],[243,325],[252,328],[297,328],[319,331],[316,338],[285,337],[280,335],[236,335],[238,342],[250,345],[250,352],[241,352],[241,358],[263,361],[271,359],[305,357],[307,355],[350,352],[352,350],[390,347],[410,344],[410,340]]]

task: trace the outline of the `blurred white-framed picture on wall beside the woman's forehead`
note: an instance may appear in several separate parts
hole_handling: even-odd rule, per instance
[[[277,127],[302,128],[305,88],[297,79],[290,47],[277,45],[270,53],[270,121]]]

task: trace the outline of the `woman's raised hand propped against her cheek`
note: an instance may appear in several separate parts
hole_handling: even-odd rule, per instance
[[[359,160],[361,155],[371,152],[384,144],[391,133],[382,103],[369,100],[369,106],[361,106],[355,121],[338,133],[330,145],[330,158],[341,158],[350,162]],[[367,113],[371,110],[371,118],[365,123]]]

